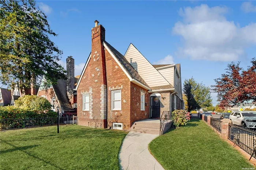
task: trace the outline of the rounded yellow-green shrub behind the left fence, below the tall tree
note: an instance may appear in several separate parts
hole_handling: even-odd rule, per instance
[[[51,103],[44,97],[25,95],[15,100],[15,107],[46,113],[51,109]]]

